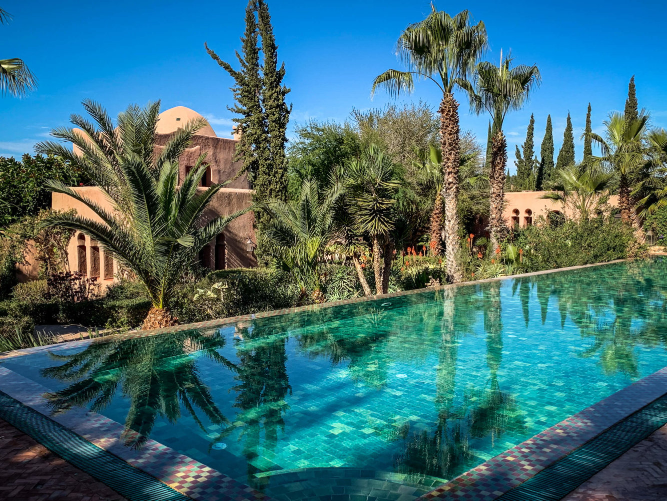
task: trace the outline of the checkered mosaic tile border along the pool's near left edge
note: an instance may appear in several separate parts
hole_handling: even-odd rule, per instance
[[[125,427],[98,413],[74,407],[67,413],[53,415],[41,397],[49,391],[48,388],[6,367],[0,367],[0,391],[193,500],[273,501],[269,496],[155,440],[147,440],[140,451],[123,446],[120,437]]]

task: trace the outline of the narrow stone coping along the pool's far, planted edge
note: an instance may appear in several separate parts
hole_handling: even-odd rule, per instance
[[[143,337],[147,335],[155,335],[155,334],[162,334],[162,333],[170,333],[170,332],[181,332],[181,331],[189,331],[191,329],[213,329],[215,327],[224,327],[225,325],[231,325],[233,323],[237,322],[243,322],[243,321],[249,321],[249,320],[254,320],[254,319],[260,319],[260,318],[268,318],[268,317],[277,317],[279,315],[287,315],[288,313],[299,313],[302,311],[317,311],[321,309],[327,309],[327,308],[332,308],[336,306],[342,306],[342,305],[351,305],[355,303],[364,303],[367,301],[381,301],[383,299],[389,299],[392,297],[404,297],[404,296],[410,296],[414,294],[421,294],[425,292],[432,292],[432,291],[443,291],[447,289],[452,289],[454,287],[474,287],[475,285],[482,284],[482,283],[488,283],[488,282],[495,282],[495,281],[501,281],[501,280],[510,280],[510,279],[521,279],[525,277],[537,277],[539,275],[548,275],[549,273],[557,273],[560,271],[575,271],[575,270],[581,270],[581,269],[586,269],[586,268],[592,268],[592,267],[598,267],[598,266],[605,266],[605,265],[614,265],[616,263],[624,263],[626,261],[632,261],[632,259],[616,259],[614,261],[607,261],[606,263],[593,263],[592,265],[580,265],[580,266],[572,266],[572,267],[567,267],[567,268],[556,268],[552,270],[544,270],[544,271],[534,271],[532,273],[521,273],[520,275],[508,275],[506,277],[496,277],[493,279],[484,279],[484,280],[476,280],[476,281],[469,281],[469,282],[460,282],[460,283],[452,283],[452,284],[447,284],[447,285],[438,285],[436,287],[427,287],[426,289],[414,289],[412,291],[400,291],[396,293],[389,293],[389,294],[383,294],[383,295],[374,295],[374,296],[369,296],[369,297],[356,297],[353,299],[342,299],[341,301],[329,301],[328,303],[321,303],[319,305],[305,305],[305,306],[298,306],[298,307],[293,307],[293,308],[284,308],[284,309],[279,309],[279,310],[271,310],[271,311],[262,311],[260,313],[251,313],[249,315],[239,315],[237,317],[227,317],[224,319],[215,319],[215,320],[207,320],[205,322],[197,322],[197,323],[187,323],[183,325],[177,325],[175,327],[165,327],[164,329],[152,329],[150,331],[131,331],[128,333],[123,333],[123,334],[112,334],[112,335],[107,335],[103,337],[95,337],[93,339],[81,339],[77,341],[65,341],[67,343],[67,346],[79,346],[79,345],[88,345],[89,343],[106,343],[107,341],[110,341],[112,339],[130,339],[132,337]],[[65,344],[65,343],[57,343],[59,345]],[[21,355],[26,355],[27,353],[37,353],[39,351],[48,351],[49,349],[53,349],[54,345],[45,345],[45,346],[39,346],[35,348],[25,348],[25,349],[17,349],[14,351],[5,351],[4,353],[0,353],[0,360],[3,358],[9,358],[9,357],[19,357]]]

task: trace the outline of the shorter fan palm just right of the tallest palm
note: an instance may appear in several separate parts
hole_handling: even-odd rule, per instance
[[[506,228],[502,217],[504,202],[505,172],[507,164],[507,140],[502,131],[506,114],[510,110],[520,110],[530,92],[540,84],[540,70],[536,65],[518,65],[510,68],[512,57],[502,58],[500,65],[484,61],[475,68],[474,84],[464,82],[470,96],[470,107],[476,114],[488,112],[492,118],[494,131],[491,144],[489,232],[492,246]]]

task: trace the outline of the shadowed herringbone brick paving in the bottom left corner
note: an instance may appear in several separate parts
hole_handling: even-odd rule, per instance
[[[0,500],[127,501],[0,420]]]

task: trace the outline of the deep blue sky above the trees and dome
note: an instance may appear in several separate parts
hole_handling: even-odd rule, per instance
[[[394,45],[401,30],[423,19],[428,1],[312,2],[268,0],[279,57],[293,103],[290,128],[309,118],[346,120],[352,108],[382,107],[384,93],[370,98],[373,78],[400,67]],[[0,98],[0,155],[32,152],[55,126],[67,124],[80,102],[93,98],[113,115],[129,103],[160,99],[162,108],[183,105],[203,114],[219,136],[229,136],[231,78],[205,53],[204,41],[229,61],[239,48],[245,2],[7,1],[13,15],[0,26],[0,57],[22,57],[39,78],[39,89],[18,100]],[[547,114],[554,122],[556,154],[568,110],[578,137],[591,102],[594,129],[611,110],[622,110],[628,79],[636,75],[640,107],[655,126],[667,126],[667,53],[662,1],[437,2],[456,13],[470,9],[486,24],[491,50],[512,50],[517,63],[537,63],[542,86],[505,122],[508,164],[521,144],[530,114],[536,118],[536,150]],[[462,128],[486,140],[488,118],[472,116],[458,96]],[[438,90],[426,81],[404,100],[434,109]],[[402,101],[402,100],[400,100]],[[399,101],[399,102],[400,102]]]

